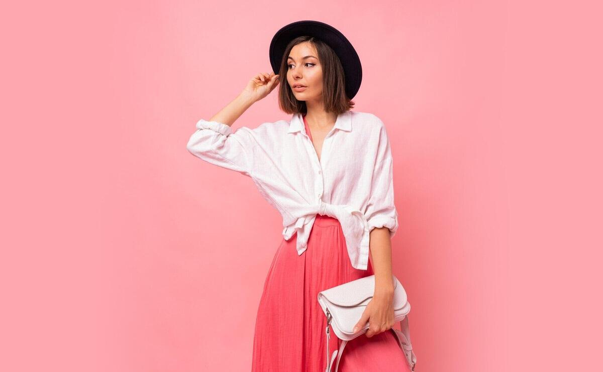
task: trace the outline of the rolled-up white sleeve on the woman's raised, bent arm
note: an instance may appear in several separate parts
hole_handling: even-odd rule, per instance
[[[233,131],[220,122],[199,120],[189,138],[186,149],[201,160],[219,167],[251,176],[253,146],[251,137],[241,131]]]

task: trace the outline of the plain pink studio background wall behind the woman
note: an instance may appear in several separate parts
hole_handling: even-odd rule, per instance
[[[601,8],[71,1],[2,13],[2,370],[250,369],[282,220],[251,179],[186,142],[270,71],[271,37],[301,19],[349,37],[364,68],[355,110],[390,134],[394,274],[417,371],[597,369]],[[275,91],[233,128],[288,118]]]

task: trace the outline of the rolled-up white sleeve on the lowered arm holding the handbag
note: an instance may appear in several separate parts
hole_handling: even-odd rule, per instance
[[[379,141],[365,217],[369,231],[374,228],[387,227],[390,229],[390,238],[393,238],[398,229],[398,212],[394,205],[394,165],[385,125],[380,120],[378,121],[380,123]]]

